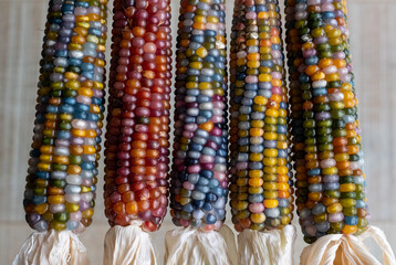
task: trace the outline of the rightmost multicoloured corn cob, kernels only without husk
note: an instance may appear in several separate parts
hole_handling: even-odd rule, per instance
[[[296,202],[304,240],[358,234],[367,226],[367,206],[345,1],[286,4]]]

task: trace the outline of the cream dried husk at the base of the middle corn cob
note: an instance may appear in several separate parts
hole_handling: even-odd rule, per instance
[[[204,232],[178,227],[166,233],[166,265],[232,265],[231,253],[237,253],[235,237],[229,227],[219,232]],[[225,237],[223,237],[225,236]],[[227,243],[226,243],[227,241]]]

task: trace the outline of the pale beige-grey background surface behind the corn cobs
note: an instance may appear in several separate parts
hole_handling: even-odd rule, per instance
[[[110,2],[112,7],[112,1]],[[228,28],[233,9],[231,2],[233,1],[229,0],[227,4]],[[174,26],[177,24],[178,3],[178,0],[171,0]],[[22,194],[32,137],[46,7],[48,0],[0,0],[1,265],[12,262],[19,247],[32,232],[24,222]],[[350,0],[348,9],[372,223],[385,230],[390,245],[396,248],[396,1]],[[92,264],[95,265],[102,264],[102,242],[108,229],[101,200],[102,183],[98,184],[94,222],[81,235],[88,248]],[[229,220],[228,216],[228,222]],[[167,219],[161,230],[153,234],[160,263],[164,235],[171,227]],[[301,240],[300,229],[298,231],[295,261],[305,245]],[[375,246],[373,251],[378,255]]]

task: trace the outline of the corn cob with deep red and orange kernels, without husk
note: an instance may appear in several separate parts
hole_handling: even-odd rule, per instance
[[[114,1],[105,214],[159,229],[166,214],[171,77],[169,1]]]

